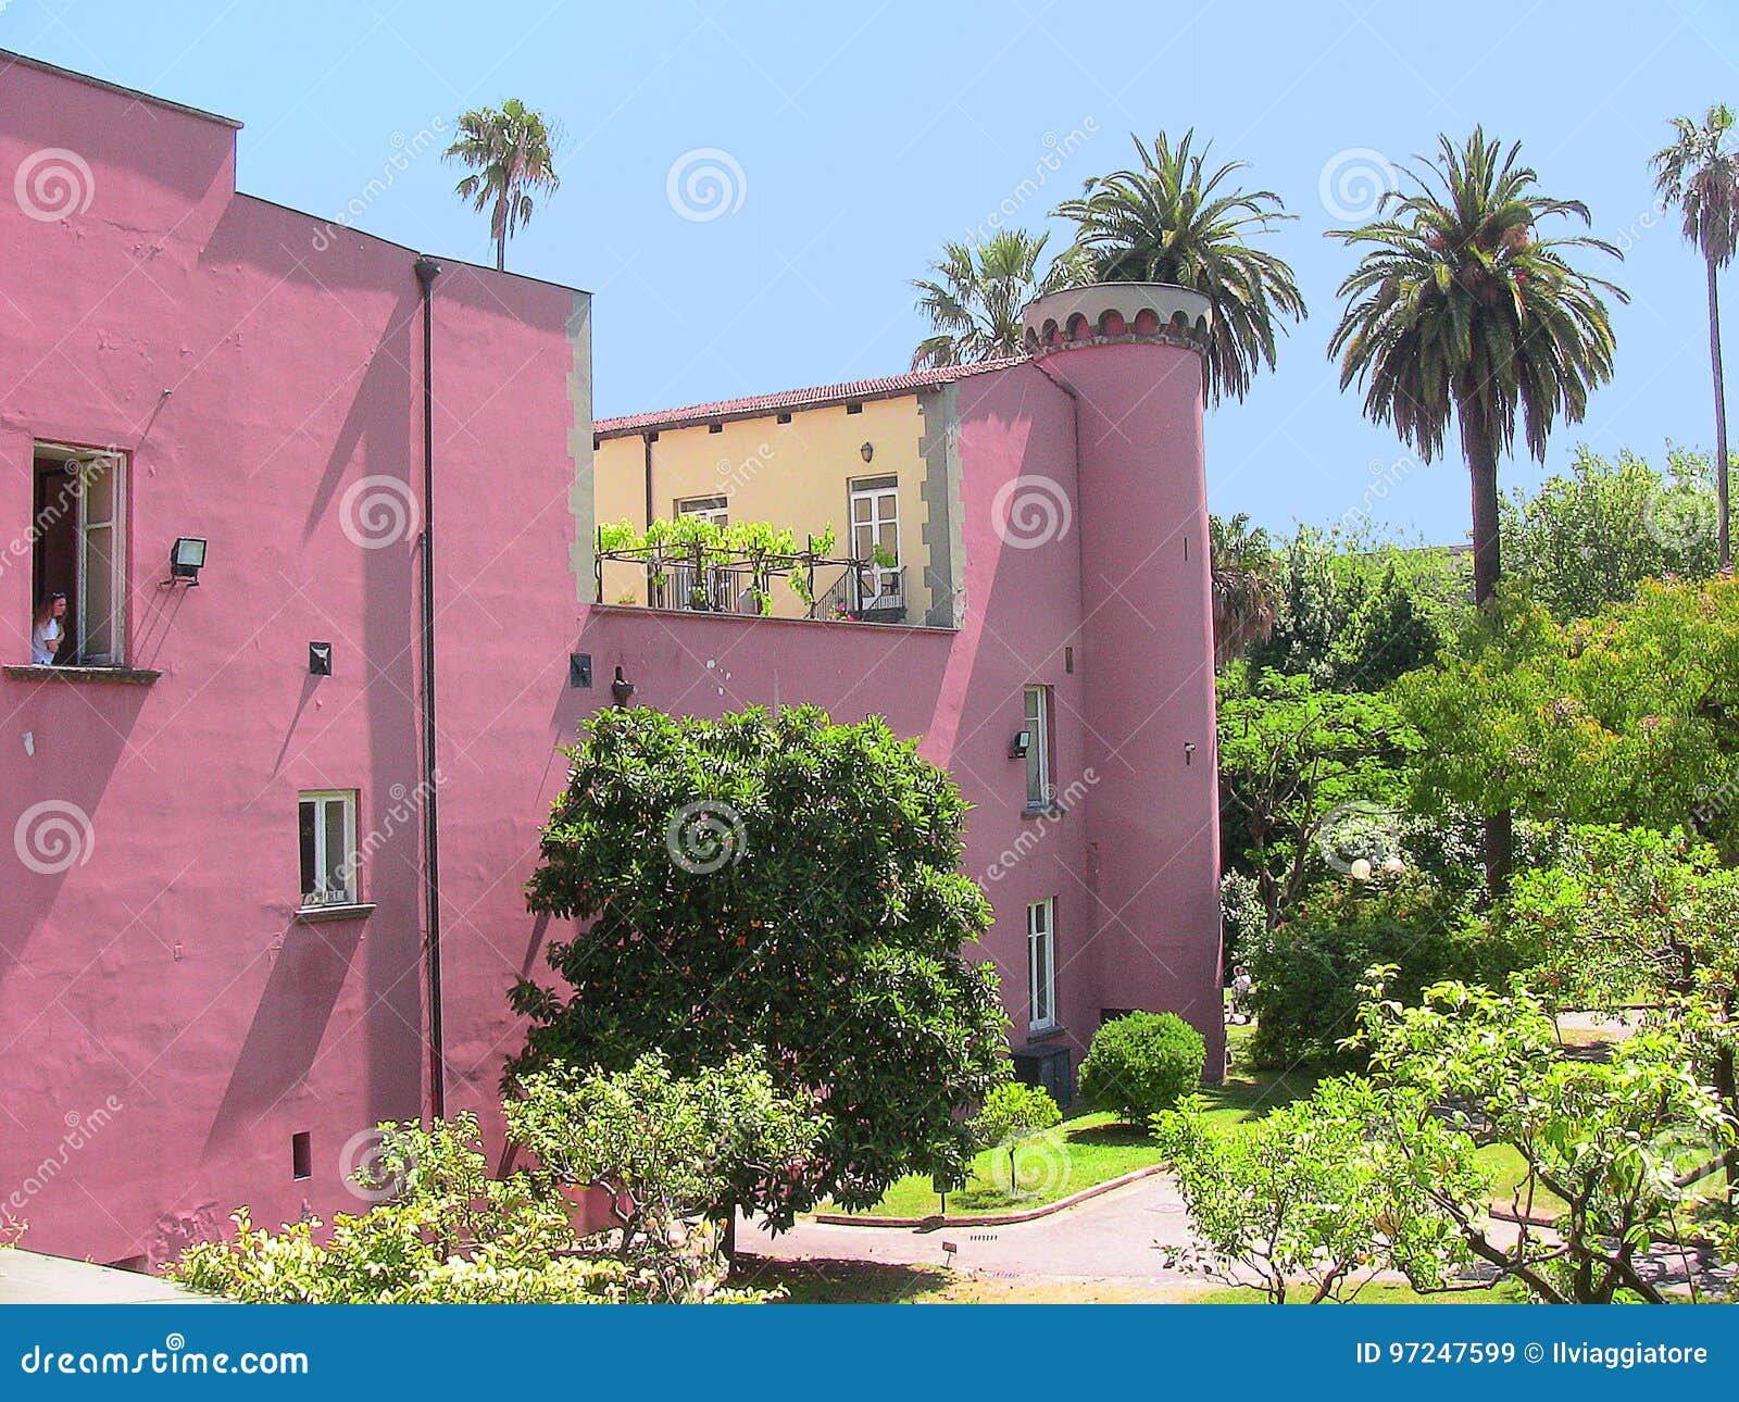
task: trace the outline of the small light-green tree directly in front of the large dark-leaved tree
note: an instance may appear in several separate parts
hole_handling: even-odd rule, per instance
[[[751,1185],[800,1171],[826,1129],[812,1103],[774,1089],[758,1052],[692,1080],[647,1052],[626,1072],[534,1072],[520,1089],[504,1112],[536,1174],[602,1188],[617,1256],[650,1268],[671,1298],[692,1294],[711,1265],[687,1218],[723,1219]]]

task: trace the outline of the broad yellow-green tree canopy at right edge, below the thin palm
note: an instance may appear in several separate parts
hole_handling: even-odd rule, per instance
[[[1730,847],[1739,772],[1739,583],[1638,584],[1591,619],[1509,598],[1396,684],[1416,795],[1482,812],[1650,826]]]

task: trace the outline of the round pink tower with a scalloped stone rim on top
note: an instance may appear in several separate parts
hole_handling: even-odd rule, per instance
[[[1082,664],[1097,783],[1090,978],[1101,1018],[1177,1012],[1224,1066],[1214,624],[1202,372],[1210,304],[1096,284],[1024,311],[1026,348],[1073,398]]]

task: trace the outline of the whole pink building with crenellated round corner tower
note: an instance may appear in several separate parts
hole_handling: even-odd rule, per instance
[[[28,1245],[157,1261],[238,1204],[358,1211],[381,1118],[496,1134],[556,746],[617,668],[671,711],[922,736],[976,804],[1029,1073],[1068,1089],[1130,1007],[1219,1065],[1198,297],[1069,292],[1028,358],[807,397],[920,400],[949,583],[922,623],[595,605],[584,292],[240,195],[233,122],[12,54],[0,176],[0,1214]]]

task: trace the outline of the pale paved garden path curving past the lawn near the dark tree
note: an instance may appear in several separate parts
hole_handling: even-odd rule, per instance
[[[948,1266],[981,1277],[1130,1280],[1153,1285],[1196,1277],[1165,1270],[1155,1242],[1181,1245],[1188,1218],[1170,1179],[1143,1178],[1078,1207],[1009,1226],[828,1226],[798,1221],[777,1237],[739,1223],[737,1247],[756,1256]],[[958,1251],[944,1251],[953,1242]]]

